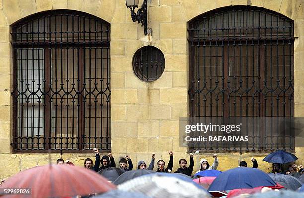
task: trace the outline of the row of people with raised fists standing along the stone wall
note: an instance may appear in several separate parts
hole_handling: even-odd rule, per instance
[[[93,162],[93,160],[91,158],[87,158],[84,160],[84,168],[93,170],[93,171],[100,171],[103,170],[105,168],[109,168],[109,167],[116,167],[116,163],[114,160],[114,157],[112,155],[112,153],[109,153],[108,155],[104,155],[101,157],[100,159],[100,155],[99,155],[99,150],[97,148],[94,148],[93,151],[95,152],[95,163]],[[173,172],[173,152],[169,151],[168,152],[170,155],[170,160],[169,163],[167,165],[167,167],[165,167],[166,163],[164,160],[160,159],[157,161],[157,169],[156,172],[163,172],[163,173],[171,173]],[[147,169],[147,170],[153,170],[154,169],[154,164],[155,164],[155,154],[153,153],[151,155],[151,161],[149,163],[149,166],[147,167],[147,163],[143,160],[140,160],[137,163],[137,169]],[[182,174],[186,174],[188,176],[192,175],[193,172],[193,167],[194,167],[194,160],[193,160],[193,154],[190,153],[190,164],[188,165],[188,162],[186,159],[180,159],[178,161],[179,164],[179,168],[174,172],[174,173],[182,173]],[[196,171],[196,173],[200,172],[200,171],[204,171],[204,170],[216,170],[217,167],[219,166],[219,160],[218,160],[218,156],[217,154],[213,154],[212,157],[214,158],[214,161],[212,163],[212,165],[209,164],[209,162],[207,161],[207,159],[201,159],[200,160],[200,169]],[[251,158],[251,162],[253,163],[252,168],[258,168],[258,162],[256,159],[254,159],[253,157]],[[57,160],[57,164],[64,164],[64,160],[63,159],[58,159]],[[239,160],[239,167],[247,167],[247,162],[246,161],[240,161]],[[66,160],[66,164],[70,164],[73,165],[72,162],[70,162],[69,160]],[[100,165],[101,164],[101,165]],[[119,159],[119,165],[118,168],[122,169],[123,171],[131,171],[133,170],[134,166],[133,166],[133,162],[130,158],[129,155],[125,155],[124,157]],[[283,174],[292,174],[295,172],[304,172],[303,166],[300,165],[299,167],[295,164],[293,165],[289,165],[288,169],[283,171],[283,165],[282,164],[278,164],[278,163],[273,163],[272,164],[272,173],[283,173]]]

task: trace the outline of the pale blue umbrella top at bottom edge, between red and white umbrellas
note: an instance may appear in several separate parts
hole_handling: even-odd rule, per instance
[[[113,190],[102,195],[97,195],[92,198],[150,198],[145,194],[139,192],[126,192],[120,190]]]

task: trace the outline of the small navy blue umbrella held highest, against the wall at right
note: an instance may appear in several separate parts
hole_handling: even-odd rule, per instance
[[[289,162],[296,161],[298,158],[293,155],[292,153],[286,152],[284,150],[278,150],[275,152],[270,153],[267,155],[263,161],[269,163],[279,163],[279,164],[286,164]]]

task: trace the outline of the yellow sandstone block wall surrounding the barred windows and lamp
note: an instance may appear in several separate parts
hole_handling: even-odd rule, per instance
[[[140,5],[142,0],[140,0]],[[174,152],[174,169],[180,158],[188,159],[188,150],[179,145],[179,118],[189,116],[189,43],[187,23],[193,18],[227,6],[252,6],[280,13],[294,22],[294,116],[304,116],[304,1],[303,0],[148,0],[148,28],[133,23],[125,0],[1,0],[0,1],[0,178],[6,178],[32,166],[48,163],[44,153],[15,153],[13,141],[13,48],[11,25],[43,11],[76,10],[108,22],[111,27],[111,152],[116,160],[130,154],[134,163],[156,160],[168,161],[168,151]],[[152,45],[160,49],[166,65],[162,76],[153,82],[143,82],[132,70],[132,57],[141,47]],[[199,160],[212,161],[217,153],[219,170],[237,166],[238,151],[202,151],[195,154],[195,168]],[[304,148],[295,153],[303,163]],[[245,152],[242,159],[257,158],[260,168],[266,152]],[[60,157],[52,153],[52,161]],[[89,153],[66,153],[62,158],[76,165],[93,157]],[[248,163],[249,164],[249,163]],[[250,165],[249,165],[250,166]]]

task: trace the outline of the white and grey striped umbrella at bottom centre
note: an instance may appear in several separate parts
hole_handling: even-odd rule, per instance
[[[141,192],[151,198],[209,198],[201,186],[186,177],[173,174],[151,174],[118,186],[119,190]]]

